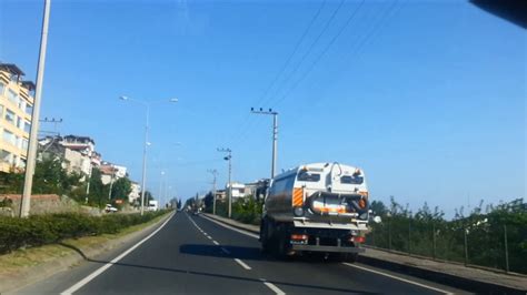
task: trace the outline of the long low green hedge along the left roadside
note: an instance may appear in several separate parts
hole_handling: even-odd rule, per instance
[[[149,222],[167,213],[145,212],[89,216],[79,213],[33,215],[28,218],[0,216],[0,254],[21,247],[59,243],[64,238],[88,235],[115,234],[121,230]]]

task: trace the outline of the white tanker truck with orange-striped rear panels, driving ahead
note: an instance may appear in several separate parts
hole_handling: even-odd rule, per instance
[[[271,180],[260,223],[264,252],[280,257],[322,253],[355,262],[368,230],[368,189],[362,170],[312,163]]]

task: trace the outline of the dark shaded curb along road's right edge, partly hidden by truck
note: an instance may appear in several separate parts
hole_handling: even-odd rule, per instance
[[[203,215],[206,215],[207,217],[213,218],[216,221],[222,222],[225,224],[228,224],[232,227],[251,232],[255,234],[259,234],[259,231],[253,228],[255,225],[241,224],[237,221],[220,217],[220,216],[215,216],[212,214],[203,214]],[[426,268],[418,267],[415,265],[408,265],[408,264],[402,264],[398,262],[376,258],[372,256],[359,255],[358,262],[368,264],[375,267],[385,268],[385,269],[394,271],[397,273],[404,273],[411,276],[420,277],[427,281],[432,281],[443,285],[448,285],[448,286],[466,289],[469,292],[486,293],[486,294],[489,294],[489,293],[526,294],[527,293],[526,289],[517,288],[515,286],[505,286],[505,285],[497,284],[494,282],[483,282],[483,281],[477,281],[473,278],[456,276],[453,274],[440,273],[437,271],[426,269]]]

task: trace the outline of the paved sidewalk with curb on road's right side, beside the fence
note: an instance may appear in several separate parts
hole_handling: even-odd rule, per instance
[[[212,214],[205,215],[251,233],[259,233],[260,230],[258,225],[242,224]],[[466,267],[459,264],[437,262],[370,247],[359,255],[359,262],[382,268],[410,273],[411,275],[438,283],[448,285],[455,284],[461,288],[474,289],[478,293],[491,293],[494,291],[507,294],[526,294],[527,292],[527,275],[521,274],[505,274],[476,267]]]

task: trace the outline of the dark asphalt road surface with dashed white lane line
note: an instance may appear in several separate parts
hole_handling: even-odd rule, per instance
[[[139,241],[136,241],[139,242]],[[136,243],[135,242],[135,243]],[[142,243],[87,261],[21,294],[464,293],[362,264],[264,256],[255,234],[177,213]]]

